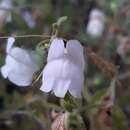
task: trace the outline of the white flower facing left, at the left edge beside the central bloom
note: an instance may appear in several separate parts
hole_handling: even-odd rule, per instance
[[[13,47],[15,39],[8,38],[6,48],[6,63],[1,68],[4,78],[18,86],[28,86],[32,82],[32,76],[38,70],[36,60],[30,51],[19,47]]]

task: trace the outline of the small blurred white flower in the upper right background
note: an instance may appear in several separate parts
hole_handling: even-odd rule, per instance
[[[104,30],[105,15],[99,9],[94,9],[90,13],[90,20],[88,22],[86,32],[93,36],[99,37]]]

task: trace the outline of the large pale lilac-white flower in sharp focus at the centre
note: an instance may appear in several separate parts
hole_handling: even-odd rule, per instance
[[[53,91],[57,97],[64,97],[69,91],[80,97],[84,84],[83,47],[77,40],[70,40],[66,47],[62,39],[54,39],[50,46],[47,65],[43,70],[41,90]]]

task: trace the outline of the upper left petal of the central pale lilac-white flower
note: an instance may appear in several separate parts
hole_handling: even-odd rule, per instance
[[[62,39],[56,38],[52,41],[51,46],[49,48],[47,61],[52,61],[61,58],[63,57],[63,55],[64,55],[64,42]]]

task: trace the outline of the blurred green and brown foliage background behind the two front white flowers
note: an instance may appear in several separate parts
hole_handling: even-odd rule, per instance
[[[61,16],[68,16],[68,20],[60,26],[59,37],[78,39],[84,48],[89,47],[97,57],[102,57],[95,57],[97,62],[93,63],[94,58],[85,53],[87,69],[82,98],[59,99],[39,90],[41,80],[33,86],[18,87],[0,75],[0,130],[129,130],[129,0],[0,0],[0,67],[5,63],[7,41],[1,37],[51,35],[52,24]],[[16,45],[34,49],[42,40],[16,38]],[[44,65],[46,57],[44,50]],[[104,66],[107,71],[102,73]],[[116,91],[108,94],[113,79],[107,75],[111,70],[117,71],[119,82],[114,85]],[[111,93],[115,95],[114,101],[110,101],[114,105],[95,107],[96,103],[107,104]],[[66,113],[70,116],[63,120]]]

